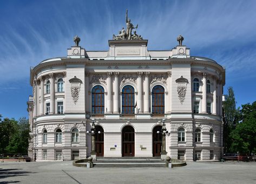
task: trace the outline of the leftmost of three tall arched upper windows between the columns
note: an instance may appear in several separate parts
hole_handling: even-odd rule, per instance
[[[99,85],[94,86],[91,93],[91,113],[104,114],[104,88]]]

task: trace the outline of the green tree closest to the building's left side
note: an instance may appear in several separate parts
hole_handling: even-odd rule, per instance
[[[18,130],[14,136],[11,137],[6,151],[9,153],[27,153],[29,147],[29,120],[25,117],[18,121]]]

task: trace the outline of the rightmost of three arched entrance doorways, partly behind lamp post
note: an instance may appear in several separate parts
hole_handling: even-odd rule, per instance
[[[153,156],[161,156],[161,147],[162,147],[162,126],[156,126],[153,129]],[[157,133],[159,131],[159,133]]]

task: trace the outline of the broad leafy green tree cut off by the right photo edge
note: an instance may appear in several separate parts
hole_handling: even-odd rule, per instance
[[[234,152],[256,153],[256,101],[242,105],[239,123],[231,132],[231,149]]]

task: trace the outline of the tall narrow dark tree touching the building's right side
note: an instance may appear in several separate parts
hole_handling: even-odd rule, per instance
[[[224,110],[224,152],[231,151],[232,140],[230,134],[235,128],[238,122],[238,111],[235,108],[237,102],[235,101],[234,91],[232,87],[228,87],[228,94],[225,95],[225,101],[223,103]]]

